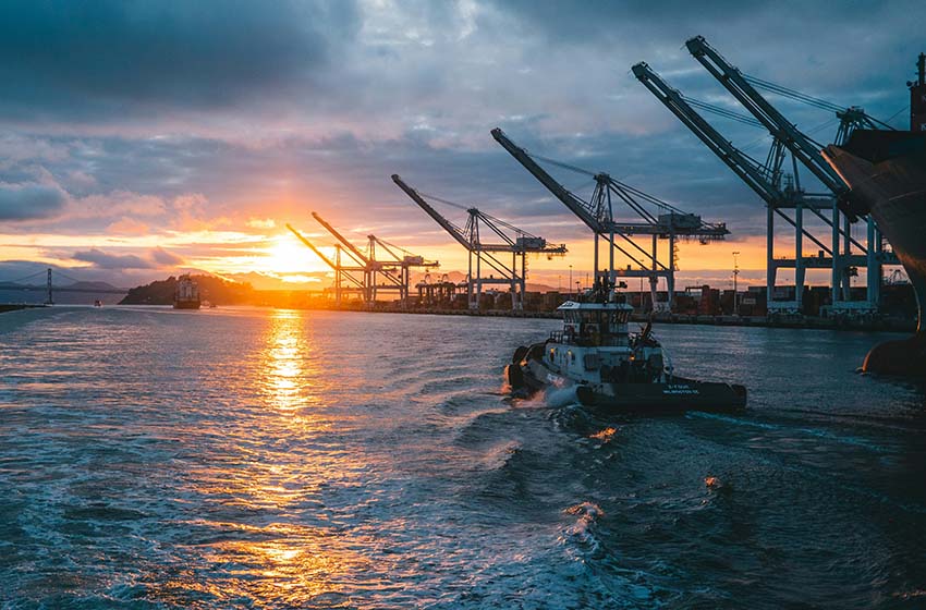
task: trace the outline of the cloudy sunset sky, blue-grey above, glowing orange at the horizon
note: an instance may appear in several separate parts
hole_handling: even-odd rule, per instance
[[[905,126],[924,16],[902,0],[7,0],[0,280],[49,264],[119,285],[184,268],[305,279],[324,267],[284,223],[330,244],[312,210],[358,243],[374,232],[464,269],[462,248],[392,173],[568,243],[566,258],[532,261],[534,280],[589,267],[588,233],[495,143],[496,126],[532,152],[726,221],[727,243],[682,246],[683,285],[724,285],[733,251],[759,279],[758,198],[631,65],[645,60],[686,95],[741,111],[685,49],[700,34],[747,74]],[[820,142],[833,137],[833,115],[769,99]],[[760,130],[706,118],[765,158]],[[556,175],[590,193],[586,176]]]

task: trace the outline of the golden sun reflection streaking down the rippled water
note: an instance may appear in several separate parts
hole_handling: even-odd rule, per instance
[[[332,523],[326,505],[326,490],[356,488],[365,464],[338,440],[308,315],[272,312],[256,357],[245,361],[241,382],[253,385],[258,403],[209,430],[211,459],[191,473],[204,504],[185,523],[200,540],[187,547],[193,569],[160,599],[342,607],[355,575],[370,571],[356,550],[365,545]]]

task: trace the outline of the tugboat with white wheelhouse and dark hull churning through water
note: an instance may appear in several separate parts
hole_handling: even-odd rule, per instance
[[[563,329],[543,343],[517,347],[505,367],[515,396],[574,388],[580,403],[605,413],[745,408],[743,386],[677,376],[653,335],[653,322],[630,333],[633,307],[616,290],[598,288],[585,302],[566,301],[558,310]]]

